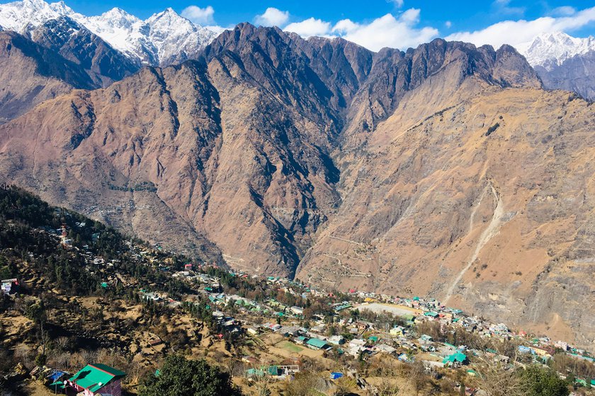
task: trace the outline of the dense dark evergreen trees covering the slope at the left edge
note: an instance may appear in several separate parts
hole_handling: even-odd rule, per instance
[[[58,236],[66,226],[69,245],[60,245]],[[163,285],[171,296],[188,293],[186,284],[147,266],[132,257],[126,245],[127,238],[113,228],[86,218],[74,211],[53,208],[35,195],[18,187],[0,188],[0,275],[2,279],[18,276],[18,262],[27,261],[35,266],[44,279],[54,282],[59,289],[79,296],[101,292],[94,264],[89,264],[85,252],[104,260],[115,260],[114,269],[130,274],[141,286]],[[140,241],[135,241],[140,243]],[[163,253],[157,262],[169,260],[174,267],[183,267],[189,260]],[[114,289],[111,293],[123,293]]]

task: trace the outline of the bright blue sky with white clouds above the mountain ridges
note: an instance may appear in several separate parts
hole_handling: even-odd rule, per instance
[[[1,1],[1,0],[0,0]],[[4,1],[1,1],[4,2]],[[113,7],[147,18],[166,7],[201,25],[228,28],[249,21],[310,35],[340,35],[378,50],[414,47],[435,37],[476,45],[516,45],[562,30],[595,35],[594,0],[66,0],[85,15]]]

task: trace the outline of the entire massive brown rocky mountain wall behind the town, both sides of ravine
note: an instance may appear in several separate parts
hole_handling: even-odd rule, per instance
[[[0,126],[0,170],[237,269],[548,319],[587,344],[593,109],[540,87],[511,47],[372,53],[242,24],[198,61]]]

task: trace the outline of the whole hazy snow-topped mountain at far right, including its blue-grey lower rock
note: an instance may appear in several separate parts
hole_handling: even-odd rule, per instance
[[[595,100],[595,37],[544,33],[517,45],[550,89],[573,91]]]

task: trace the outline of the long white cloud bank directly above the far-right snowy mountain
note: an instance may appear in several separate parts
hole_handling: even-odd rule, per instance
[[[532,21],[502,21],[474,32],[458,32],[446,37],[446,40],[472,42],[475,45],[489,44],[500,47],[503,44],[519,45],[528,42],[536,35],[555,31],[572,31],[595,21],[595,7],[586,8],[572,16],[544,16]]]

